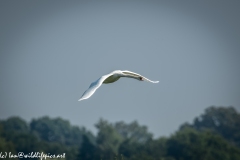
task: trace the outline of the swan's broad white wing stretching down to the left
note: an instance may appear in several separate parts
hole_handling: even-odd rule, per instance
[[[88,99],[89,97],[91,97],[93,93],[102,85],[103,81],[111,75],[112,74],[104,75],[100,77],[98,80],[96,80],[95,82],[93,82],[89,86],[89,88],[83,93],[82,97],[78,101]]]

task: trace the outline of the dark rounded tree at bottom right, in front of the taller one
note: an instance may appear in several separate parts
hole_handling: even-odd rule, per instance
[[[240,159],[240,149],[213,132],[184,128],[166,142],[167,155],[176,160]]]

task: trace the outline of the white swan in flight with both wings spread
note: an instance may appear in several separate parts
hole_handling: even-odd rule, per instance
[[[147,79],[146,77],[141,76],[140,74],[131,72],[131,71],[121,71],[121,70],[116,70],[113,71],[109,74],[106,74],[102,77],[100,77],[98,80],[96,80],[95,82],[93,82],[89,88],[83,93],[82,97],[78,100],[84,100],[84,99],[88,99],[89,97],[91,97],[93,95],[93,93],[103,84],[107,84],[107,83],[113,83],[115,81],[117,81],[119,78],[121,77],[128,77],[128,78],[135,78],[137,80],[140,81],[148,81],[151,83],[158,83],[159,81],[151,81],[149,79]]]

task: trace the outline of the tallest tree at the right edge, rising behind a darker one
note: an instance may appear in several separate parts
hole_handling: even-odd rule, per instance
[[[209,107],[188,126],[200,131],[210,129],[240,147],[240,113],[233,107]]]

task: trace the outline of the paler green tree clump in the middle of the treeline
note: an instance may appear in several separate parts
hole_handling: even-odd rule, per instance
[[[153,137],[152,133],[148,132],[147,127],[139,125],[137,121],[129,124],[124,122],[112,124],[100,119],[96,124],[96,128],[98,129],[96,137],[97,146],[102,153],[101,157],[107,159],[113,159],[116,155],[123,152],[122,150],[119,152],[122,142],[143,146],[143,144],[152,140]]]

